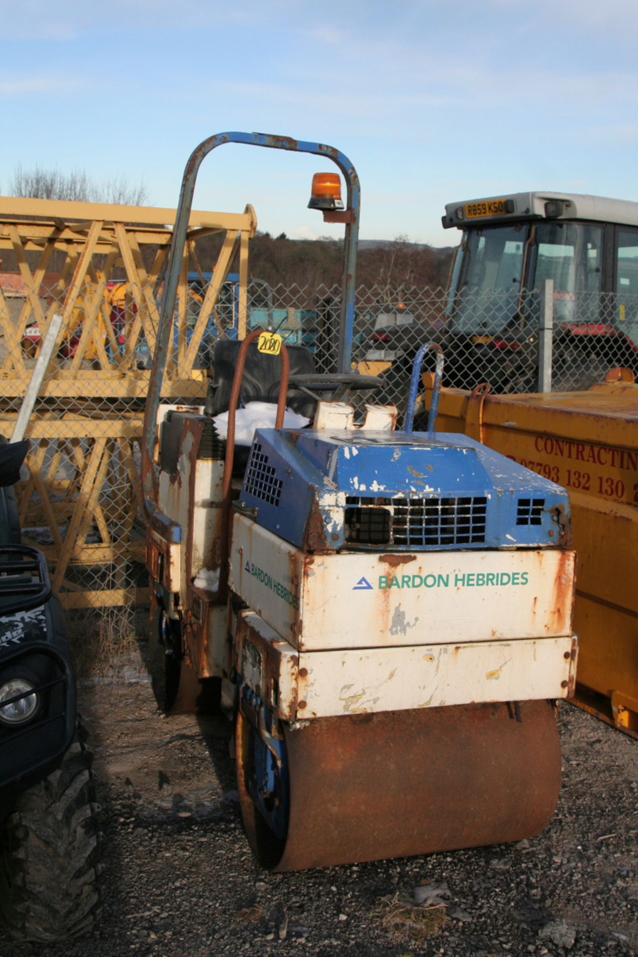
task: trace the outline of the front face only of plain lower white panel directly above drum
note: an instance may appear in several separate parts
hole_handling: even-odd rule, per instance
[[[297,717],[566,698],[575,666],[571,636],[301,653]]]

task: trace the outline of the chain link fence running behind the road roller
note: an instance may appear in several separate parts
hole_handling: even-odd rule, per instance
[[[87,269],[75,290],[44,271],[31,281],[0,273],[2,432],[11,436],[48,323],[64,309],[27,432],[29,477],[18,488],[23,536],[45,551],[67,608],[130,610],[147,597],[140,442],[160,287],[158,270],[142,285],[139,273],[132,281],[107,273],[103,262],[100,269]],[[339,371],[339,288],[252,281],[246,300],[231,279],[210,304],[210,272],[185,269],[184,280],[166,401],[203,401],[215,343],[237,338],[244,325],[270,327],[306,347],[319,372]],[[360,288],[352,366],[379,375],[382,387],[369,401],[394,403],[400,414],[414,355],[429,341],[444,347],[448,386],[587,389],[610,367],[638,370],[637,300],[566,297],[551,283],[516,297],[466,292],[453,302],[444,290]]]

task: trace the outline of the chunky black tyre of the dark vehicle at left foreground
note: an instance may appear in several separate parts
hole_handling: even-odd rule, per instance
[[[1,827],[0,909],[21,940],[77,937],[99,914],[99,807],[83,737],[78,731],[60,768],[21,794]]]

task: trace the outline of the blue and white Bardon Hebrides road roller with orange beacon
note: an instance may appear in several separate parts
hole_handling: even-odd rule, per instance
[[[188,213],[201,161],[225,143],[340,168],[341,372],[256,329],[220,338],[206,398],[176,403],[163,383]],[[246,833],[275,871],[538,834],[561,784],[556,708],[575,685],[566,492],[435,433],[438,345],[417,352],[400,429],[375,404],[378,382],[350,367],[358,216],[356,172],[332,147],[245,133],[198,146],[146,403],[153,688],[166,713],[231,720]]]

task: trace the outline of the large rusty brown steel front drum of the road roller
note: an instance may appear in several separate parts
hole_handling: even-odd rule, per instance
[[[247,793],[246,722],[237,784],[262,865],[294,871],[451,851],[537,835],[561,787],[561,746],[547,701],[471,704],[303,722],[284,728],[290,819],[269,846]]]

